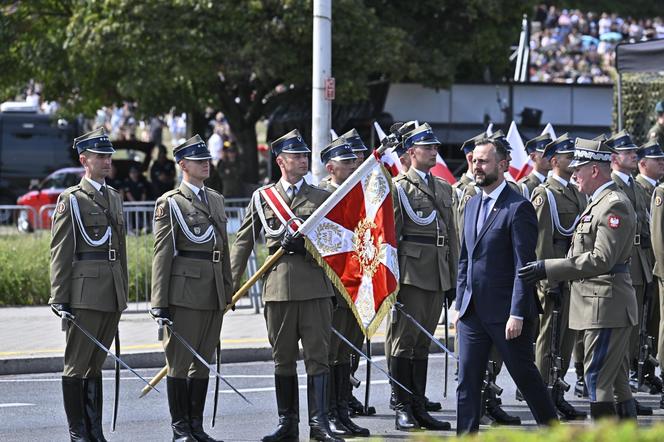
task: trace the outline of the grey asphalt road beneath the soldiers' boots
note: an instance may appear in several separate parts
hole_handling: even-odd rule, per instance
[[[384,358],[376,358],[385,368]],[[433,355],[429,362],[428,396],[443,402],[443,411],[433,413],[438,418],[452,422],[455,428],[455,399],[453,366],[450,364],[447,399],[443,399],[443,363],[442,355]],[[355,390],[356,396],[364,398],[364,379],[366,367],[361,365],[359,377],[362,386]],[[300,439],[306,440],[309,435],[306,407],[306,377],[304,366],[300,363]],[[157,370],[140,370],[143,376],[152,376]],[[220,408],[217,425],[210,429],[213,437],[224,441],[260,440],[262,436],[273,431],[277,423],[276,401],[274,397],[273,366],[271,362],[255,362],[243,364],[224,364],[222,374],[253,403],[245,403],[222,383]],[[372,417],[359,417],[356,421],[371,430],[372,436],[386,439],[405,439],[407,433],[394,429],[394,414],[388,408],[389,389],[385,375],[372,370],[372,388],[370,403],[377,409]],[[573,381],[574,376],[568,373],[567,380]],[[534,421],[525,403],[514,399],[515,387],[509,375],[503,370],[498,384],[504,388],[502,395],[505,409],[521,417],[524,427],[534,428]],[[113,373],[104,372],[104,422],[105,434],[109,441],[167,441],[171,440],[170,416],[165,392],[165,384],[160,384],[162,394],[152,392],[142,399],[138,394],[142,382],[132,377],[131,373],[122,372],[121,400],[118,427],[115,433],[110,432],[111,412],[113,407]],[[210,382],[210,392],[214,388],[214,380]],[[0,377],[0,440],[10,441],[66,441],[68,434],[66,419],[62,407],[60,374],[21,375]],[[212,416],[212,398],[208,395],[205,410],[205,427],[210,428]],[[568,393],[568,399],[588,411],[587,402],[574,400]],[[647,405],[657,406],[658,396],[639,395],[639,400]],[[653,420],[661,420],[664,410],[657,410],[649,419],[639,418],[640,424]],[[589,421],[586,421],[588,423]],[[486,428],[487,431],[489,427]],[[423,434],[423,433],[419,433]],[[446,434],[446,433],[439,433]],[[448,433],[452,435],[453,433]]]

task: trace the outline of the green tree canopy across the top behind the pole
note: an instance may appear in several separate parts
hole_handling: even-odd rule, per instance
[[[221,109],[256,178],[256,122],[282,100],[309,100],[311,0],[33,0],[2,10],[0,90],[34,78],[48,99],[91,115],[136,100]],[[516,0],[334,0],[337,100],[366,97],[369,79],[446,87],[460,72],[502,73],[520,16]]]

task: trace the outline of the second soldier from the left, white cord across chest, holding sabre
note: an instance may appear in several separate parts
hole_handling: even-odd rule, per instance
[[[211,156],[198,135],[173,156],[183,180],[155,206],[151,313],[209,361],[233,295],[224,197],[203,184]],[[170,332],[164,353],[173,440],[214,441],[203,430],[209,369]]]

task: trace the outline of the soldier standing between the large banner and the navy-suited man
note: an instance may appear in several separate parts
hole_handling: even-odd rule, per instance
[[[443,303],[455,297],[458,262],[452,187],[429,173],[436,164],[439,145],[426,123],[405,134],[402,147],[408,152],[411,167],[394,179],[400,202],[395,205],[398,299],[430,333],[436,330]],[[390,372],[414,393],[411,397],[395,387],[396,428],[449,430],[450,424],[434,419],[425,406],[429,338],[399,313],[391,326]]]

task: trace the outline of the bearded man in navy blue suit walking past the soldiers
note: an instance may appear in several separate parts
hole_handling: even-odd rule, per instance
[[[494,344],[538,424],[557,419],[533,354],[533,319],[542,307],[516,269],[535,260],[537,217],[532,204],[507,185],[507,152],[489,139],[473,152],[482,192],[466,206],[456,309],[459,339],[457,434],[477,432],[482,380]]]

